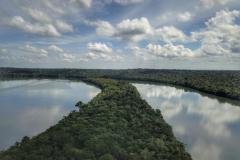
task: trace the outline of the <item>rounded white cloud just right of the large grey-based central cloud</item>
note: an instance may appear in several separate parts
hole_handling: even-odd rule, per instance
[[[174,26],[164,26],[155,30],[154,36],[165,42],[185,41],[185,34]]]

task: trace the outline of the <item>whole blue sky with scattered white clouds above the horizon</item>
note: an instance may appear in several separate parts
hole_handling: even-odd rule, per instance
[[[240,1],[1,0],[0,67],[240,70]]]

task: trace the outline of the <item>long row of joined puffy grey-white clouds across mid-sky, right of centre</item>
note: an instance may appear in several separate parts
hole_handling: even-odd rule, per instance
[[[95,26],[98,35],[133,42],[147,38],[158,39],[164,42],[186,41],[188,39],[180,29],[174,26],[154,28],[145,17],[125,19],[116,26],[113,26],[107,21],[85,21],[85,23]]]

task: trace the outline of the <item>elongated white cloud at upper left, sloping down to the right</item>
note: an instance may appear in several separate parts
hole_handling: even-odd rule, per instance
[[[14,16],[9,25],[19,28],[27,33],[38,34],[42,36],[60,36],[61,34],[51,24],[32,24],[25,21],[21,16]]]

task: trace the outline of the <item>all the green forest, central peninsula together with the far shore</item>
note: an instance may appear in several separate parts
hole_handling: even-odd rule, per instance
[[[190,160],[160,110],[152,109],[128,81],[240,100],[240,71],[0,68],[0,79],[81,80],[102,90],[45,132],[0,152],[1,160]]]

